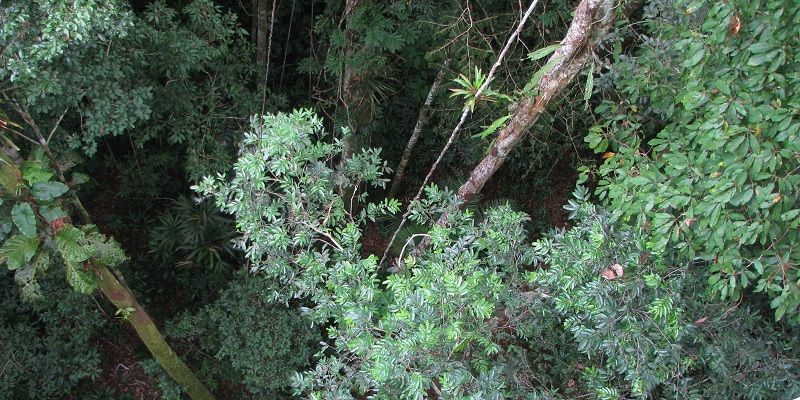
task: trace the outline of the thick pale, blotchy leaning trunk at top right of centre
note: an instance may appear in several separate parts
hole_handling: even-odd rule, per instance
[[[611,0],[582,0],[575,11],[561,47],[548,60],[554,67],[546,73],[539,83],[536,97],[525,97],[516,104],[516,109],[508,125],[497,135],[489,154],[472,170],[472,173],[458,189],[462,205],[480,192],[486,182],[497,172],[525,136],[531,126],[544,113],[547,105],[575,80],[586,61],[592,55],[595,40],[611,25],[613,2]],[[447,221],[447,215],[440,218]]]

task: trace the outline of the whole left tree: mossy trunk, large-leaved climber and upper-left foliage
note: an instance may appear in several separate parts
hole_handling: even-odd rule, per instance
[[[136,101],[129,102],[121,93],[103,92],[97,96],[93,85],[118,87],[117,75],[108,73],[119,68],[116,60],[97,62],[97,51],[102,43],[111,45],[121,39],[133,25],[129,13],[115,3],[82,7],[46,2],[31,2],[2,8],[3,79],[2,95],[5,105],[21,118],[26,127],[3,120],[4,134],[24,140],[30,154],[20,164],[19,147],[6,139],[3,156],[2,184],[5,200],[3,213],[4,243],[0,248],[7,268],[19,270],[29,279],[25,287],[36,294],[36,275],[50,262],[63,263],[66,279],[78,292],[91,294],[99,289],[131,323],[142,341],[162,367],[193,398],[213,398],[200,380],[180,360],[164,340],[155,323],[141,307],[116,267],[126,260],[120,246],[102,235],[92,225],[91,218],[76,194],[77,175],[67,180],[65,160],[51,149],[54,134],[59,129],[70,107],[86,111],[90,126],[83,142],[95,146],[92,140],[107,134],[118,134],[147,116],[146,107]],[[60,61],[53,65],[54,61]],[[82,64],[84,62],[85,64]],[[78,71],[88,70],[87,74]],[[52,77],[50,81],[43,77]],[[63,77],[62,77],[63,76]],[[94,82],[71,86],[71,81]],[[106,88],[107,89],[107,88]],[[61,94],[60,101],[45,101],[48,96]],[[146,97],[145,94],[140,95]],[[141,100],[141,98],[139,99]],[[121,106],[122,112],[114,110]],[[48,114],[65,107],[59,116],[50,119]],[[127,108],[127,109],[126,109]],[[113,110],[113,111],[112,111]],[[115,112],[116,111],[116,112]],[[40,121],[47,121],[49,131],[43,130]],[[96,129],[96,130],[95,130]],[[58,138],[56,138],[58,139]],[[68,195],[71,206],[80,216],[82,226],[70,223],[60,201]],[[10,217],[10,218],[9,218]],[[12,222],[13,221],[13,225]],[[7,236],[7,235],[13,236]]]

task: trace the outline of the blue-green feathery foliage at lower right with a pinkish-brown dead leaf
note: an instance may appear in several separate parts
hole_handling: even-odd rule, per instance
[[[532,307],[556,313],[583,354],[573,362],[587,390],[597,398],[800,393],[791,336],[767,333],[757,312],[696,296],[709,275],[702,265],[665,258],[650,233],[612,223],[585,189],[576,195],[566,207],[575,226],[534,244],[547,268],[528,279]]]

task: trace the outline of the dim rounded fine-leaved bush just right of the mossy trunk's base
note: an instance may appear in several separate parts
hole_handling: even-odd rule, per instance
[[[213,354],[218,376],[245,384],[258,398],[274,398],[288,389],[293,371],[309,365],[320,335],[298,310],[274,304],[273,290],[261,276],[239,277],[168,331]]]

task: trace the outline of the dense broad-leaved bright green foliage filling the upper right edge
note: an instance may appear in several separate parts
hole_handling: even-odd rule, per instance
[[[765,292],[776,319],[797,323],[800,69],[790,38],[800,13],[780,1],[667,2],[647,17],[652,36],[637,57],[617,57],[616,93],[586,137],[611,151],[598,193],[615,218],[652,229],[657,251],[707,262],[721,299]]]

